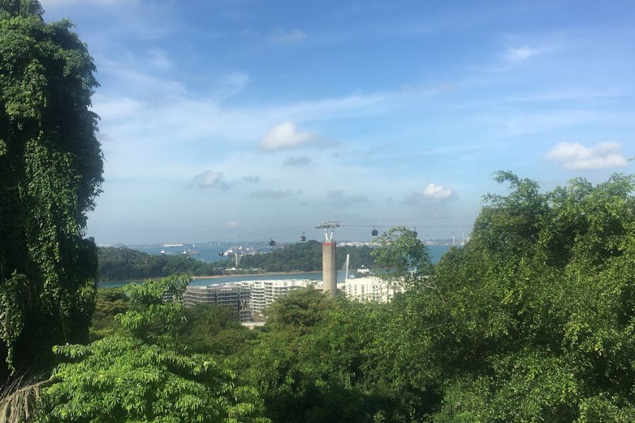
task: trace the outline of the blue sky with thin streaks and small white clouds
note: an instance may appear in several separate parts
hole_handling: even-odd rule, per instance
[[[97,66],[97,243],[461,237],[495,171],[634,173],[632,1],[41,3]]]

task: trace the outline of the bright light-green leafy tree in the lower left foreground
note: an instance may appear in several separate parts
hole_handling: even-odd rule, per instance
[[[68,362],[44,388],[42,422],[268,422],[258,392],[209,355],[190,355],[178,341],[185,323],[186,276],[126,286],[123,331],[63,345]],[[169,291],[173,302],[163,302]]]

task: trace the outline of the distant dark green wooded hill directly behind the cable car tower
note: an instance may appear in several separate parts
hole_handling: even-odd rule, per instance
[[[346,255],[351,255],[351,265],[373,266],[370,247],[337,247],[337,268],[341,268]],[[265,271],[322,271],[322,244],[316,240],[284,245],[270,254],[247,255],[241,259],[243,269],[258,268]]]

